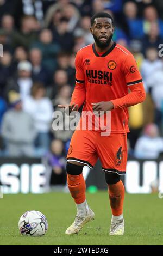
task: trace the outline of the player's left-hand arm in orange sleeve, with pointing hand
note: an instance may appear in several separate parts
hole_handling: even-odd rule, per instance
[[[74,88],[70,105],[59,105],[59,107],[69,107],[71,111],[77,111],[84,103],[85,96],[86,96],[86,89],[85,89],[85,76],[82,67],[82,58],[80,53],[77,53],[76,60],[76,86]]]

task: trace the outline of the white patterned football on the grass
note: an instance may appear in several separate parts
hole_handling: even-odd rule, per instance
[[[45,215],[40,211],[26,211],[18,221],[20,233],[25,236],[45,235],[48,223]]]

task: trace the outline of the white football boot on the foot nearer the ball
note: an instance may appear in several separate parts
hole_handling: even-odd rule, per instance
[[[90,208],[89,208],[89,211],[87,212],[86,216],[76,215],[74,222],[72,223],[72,225],[70,227],[67,228],[65,234],[66,235],[78,234],[79,231],[83,228],[83,226],[87,222],[94,220],[94,217],[95,217],[95,214]]]

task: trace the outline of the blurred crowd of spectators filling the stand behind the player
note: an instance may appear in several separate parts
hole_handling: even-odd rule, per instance
[[[70,102],[74,58],[93,42],[98,11],[114,17],[113,39],[134,54],[147,93],[129,109],[129,155],[163,152],[162,0],[0,0],[1,156],[43,156],[54,175],[64,173],[72,132],[54,131],[52,113]]]

